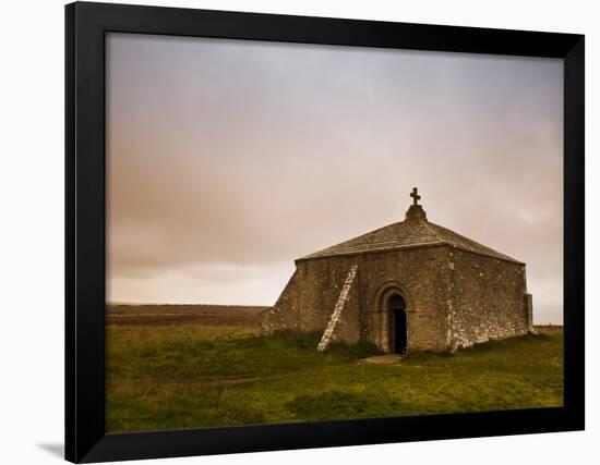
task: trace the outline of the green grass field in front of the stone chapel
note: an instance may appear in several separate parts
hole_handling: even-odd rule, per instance
[[[107,430],[140,431],[562,405],[562,333],[360,364],[371,344],[240,327],[108,327]]]

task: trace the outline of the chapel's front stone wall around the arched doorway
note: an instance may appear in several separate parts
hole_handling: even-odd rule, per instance
[[[358,274],[337,338],[372,341],[389,348],[385,299],[398,292],[407,303],[409,350],[447,350],[449,270],[446,247],[418,247],[298,260],[297,270],[265,320],[267,332],[323,332],[350,267]]]

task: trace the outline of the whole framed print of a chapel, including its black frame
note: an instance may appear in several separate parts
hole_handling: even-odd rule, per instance
[[[584,36],[65,26],[69,461],[584,428]]]

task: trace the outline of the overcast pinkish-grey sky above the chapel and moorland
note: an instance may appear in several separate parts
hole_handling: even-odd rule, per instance
[[[561,321],[561,60],[110,34],[110,302],[273,305],[293,259],[430,221]]]

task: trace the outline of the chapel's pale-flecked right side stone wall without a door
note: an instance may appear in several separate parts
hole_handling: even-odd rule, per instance
[[[451,348],[530,330],[525,265],[447,249],[452,270],[448,301]]]

